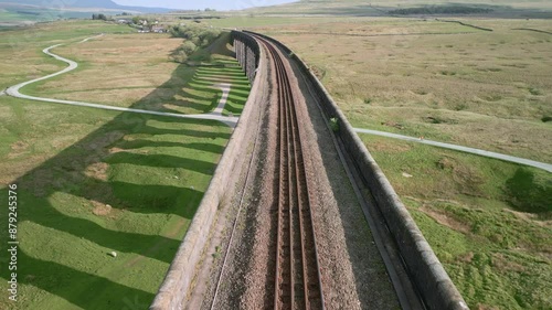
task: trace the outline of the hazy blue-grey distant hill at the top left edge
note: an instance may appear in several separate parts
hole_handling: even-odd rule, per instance
[[[162,13],[171,11],[164,8],[146,8],[146,7],[126,7],[119,6],[112,0],[61,0],[61,1],[44,1],[44,0],[0,0],[2,3],[28,4],[47,9],[71,9],[71,8],[97,8],[121,11],[139,11],[148,13]]]

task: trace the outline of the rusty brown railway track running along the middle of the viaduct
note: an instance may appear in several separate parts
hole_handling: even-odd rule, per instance
[[[296,100],[282,54],[270,42],[256,39],[274,61],[277,83],[279,192],[274,212],[277,222],[274,309],[325,309]]]

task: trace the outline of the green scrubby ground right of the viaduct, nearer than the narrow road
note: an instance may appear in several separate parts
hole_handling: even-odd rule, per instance
[[[361,138],[471,309],[552,307],[549,172]]]

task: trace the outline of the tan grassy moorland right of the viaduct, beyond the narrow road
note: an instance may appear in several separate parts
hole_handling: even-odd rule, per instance
[[[545,21],[507,24],[487,32],[383,19],[259,30],[315,67],[353,126],[551,162],[552,35],[511,30]],[[322,49],[328,35],[333,49]]]

